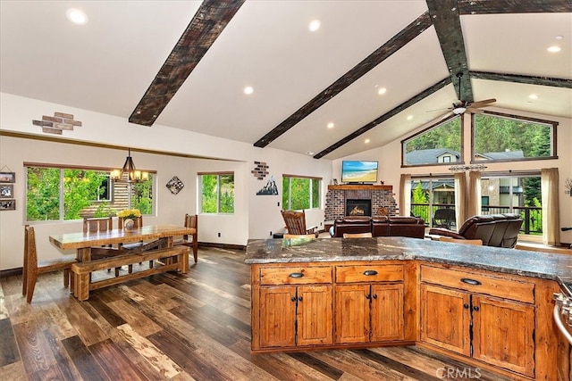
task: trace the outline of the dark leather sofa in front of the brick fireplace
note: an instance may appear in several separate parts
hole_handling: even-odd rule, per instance
[[[342,237],[344,233],[372,233],[372,236],[409,236],[424,238],[425,220],[404,216],[346,216],[335,219],[330,235]]]

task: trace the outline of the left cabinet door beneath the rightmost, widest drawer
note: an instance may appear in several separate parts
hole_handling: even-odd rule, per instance
[[[470,297],[461,291],[421,285],[421,340],[470,355]]]

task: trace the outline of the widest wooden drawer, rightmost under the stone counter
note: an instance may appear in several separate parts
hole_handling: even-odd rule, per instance
[[[515,279],[492,277],[457,269],[421,266],[421,281],[518,302],[534,302],[534,283]]]

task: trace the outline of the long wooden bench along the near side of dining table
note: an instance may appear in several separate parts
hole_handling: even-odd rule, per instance
[[[186,274],[189,270],[190,248],[187,246],[168,247],[151,250],[143,253],[126,253],[114,257],[103,258],[88,262],[78,262],[71,265],[71,273],[74,278],[73,294],[80,301],[86,301],[89,291],[98,288],[117,285],[131,279],[148,277],[164,271],[176,270]],[[130,266],[135,263],[151,261],[154,266],[149,269],[130,272],[118,277],[90,281],[91,273],[102,269],[113,269],[121,266]]]

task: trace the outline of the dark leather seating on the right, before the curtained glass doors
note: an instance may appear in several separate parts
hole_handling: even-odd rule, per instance
[[[480,239],[484,246],[513,248],[517,244],[521,226],[522,219],[518,214],[489,214],[467,219],[458,229],[458,233],[446,228],[431,228],[429,235]]]

